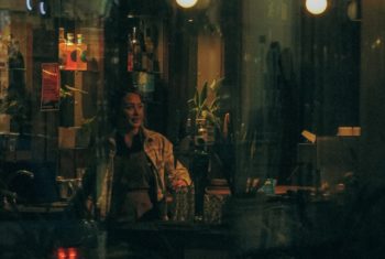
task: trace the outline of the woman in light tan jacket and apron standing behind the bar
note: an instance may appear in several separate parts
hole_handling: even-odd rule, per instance
[[[102,185],[101,216],[116,222],[167,219],[166,187],[191,183],[175,163],[173,144],[143,126],[144,105],[135,89],[121,96],[117,129],[110,138],[111,166]]]

